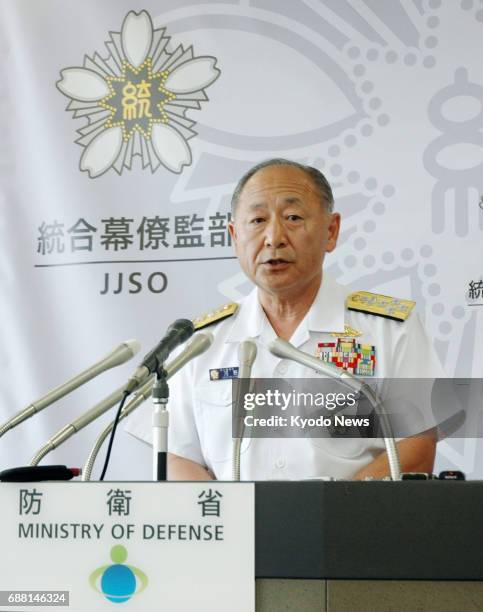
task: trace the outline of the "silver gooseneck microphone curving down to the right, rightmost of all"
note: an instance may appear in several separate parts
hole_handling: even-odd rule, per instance
[[[377,416],[379,417],[379,422],[381,424],[382,432],[384,435],[384,444],[387,452],[387,459],[389,462],[389,468],[391,471],[392,480],[401,480],[401,465],[399,461],[399,454],[396,447],[396,442],[394,441],[394,434],[392,432],[391,422],[389,421],[389,417],[386,414],[384,409],[384,405],[381,399],[378,397],[377,393],[370,387],[366,382],[360,380],[354,374],[347,372],[347,370],[343,370],[342,368],[338,368],[337,366],[329,365],[328,363],[324,363],[320,359],[316,357],[312,357],[303,351],[295,348],[290,342],[283,340],[282,338],[277,338],[273,340],[268,345],[268,350],[275,355],[276,357],[280,357],[282,359],[290,359],[292,361],[296,361],[301,365],[304,365],[320,374],[324,374],[329,378],[336,378],[341,381],[342,384],[346,385],[352,390],[359,391],[363,395],[367,397],[371,406],[374,408]]]

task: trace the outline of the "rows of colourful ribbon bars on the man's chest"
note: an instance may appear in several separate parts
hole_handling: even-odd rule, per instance
[[[318,342],[315,356],[357,376],[375,375],[376,347],[357,342],[355,338],[337,338],[337,342]]]

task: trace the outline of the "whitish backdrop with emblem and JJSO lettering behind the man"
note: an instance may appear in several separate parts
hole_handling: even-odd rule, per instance
[[[122,340],[147,352],[246,294],[229,199],[273,156],[333,184],[339,282],[416,300],[447,374],[481,377],[481,2],[3,0],[0,28],[0,422]],[[7,433],[0,467],[134,365]],[[82,465],[111,418],[48,462]],[[482,477],[478,449],[444,441],[437,469]],[[109,477],[149,462],[120,431]]]

